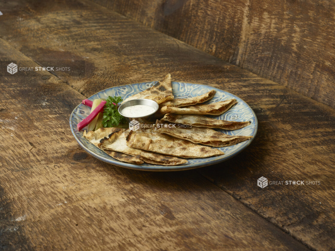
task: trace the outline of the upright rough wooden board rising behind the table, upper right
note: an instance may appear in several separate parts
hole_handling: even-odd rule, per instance
[[[335,107],[334,1],[93,1]]]

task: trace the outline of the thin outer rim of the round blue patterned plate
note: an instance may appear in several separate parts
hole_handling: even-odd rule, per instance
[[[158,82],[158,81],[148,81],[148,82],[141,82],[141,83],[133,83],[133,84],[126,84],[126,85],[139,85],[139,84],[148,84],[148,83],[152,83],[152,82]],[[221,90],[221,89],[218,89],[218,88],[215,88],[215,87],[212,87],[210,85],[204,85],[204,84],[194,84],[194,83],[186,83],[186,82],[177,82],[177,81],[172,81],[171,83],[182,83],[182,84],[191,84],[191,85],[203,85],[203,86],[206,86],[206,87],[210,87],[212,89],[215,89],[217,91],[220,91],[220,92],[225,92],[225,93],[229,93],[230,95],[232,96],[235,96],[235,97],[238,97],[236,96],[235,94],[232,94],[230,92],[227,92],[227,91],[224,91],[224,90]],[[126,86],[126,85],[118,85],[118,86],[113,86],[113,87],[109,87],[109,88],[106,88],[104,90],[101,90],[101,91],[98,91],[94,94],[92,94],[91,96],[89,96],[88,98],[86,99],[89,99],[91,98],[92,96],[100,93],[100,92],[103,92],[103,91],[106,91],[108,89],[112,89],[112,88],[117,88],[117,87],[121,87],[121,86]],[[85,150],[88,154],[92,155],[93,157],[103,161],[103,162],[106,162],[106,163],[109,163],[109,164],[113,164],[113,165],[116,165],[116,166],[120,166],[120,167],[125,167],[125,168],[129,168],[129,169],[134,169],[134,170],[142,170],[142,171],[183,171],[183,170],[190,170],[190,169],[194,169],[194,168],[199,168],[199,167],[205,167],[205,166],[210,166],[210,165],[214,165],[214,164],[217,164],[217,163],[220,163],[220,162],[223,162],[223,161],[226,161],[234,156],[236,156],[237,154],[239,154],[242,150],[244,150],[245,148],[247,148],[251,142],[255,139],[255,136],[257,134],[257,131],[258,131],[258,119],[257,119],[257,116],[254,112],[254,110],[250,107],[250,105],[245,102],[242,98],[238,97],[239,99],[241,99],[248,107],[249,109],[251,110],[253,116],[255,117],[255,129],[253,131],[253,134],[251,136],[253,136],[250,140],[248,140],[248,142],[245,144],[245,145],[242,145],[241,147],[239,147],[238,149],[236,149],[234,152],[226,155],[221,155],[221,156],[215,156],[215,157],[218,157],[217,159],[214,159],[214,160],[207,160],[207,161],[203,161],[203,162],[200,162],[200,163],[194,163],[194,164],[186,164],[186,165],[177,165],[177,166],[162,166],[162,165],[153,165],[153,164],[148,164],[148,166],[142,166],[142,165],[135,165],[135,164],[130,164],[130,163],[127,163],[127,162],[122,162],[122,161],[119,161],[119,160],[110,160],[110,159],[106,159],[105,157],[103,156],[100,156],[94,152],[92,152],[91,150],[89,150],[88,148],[86,148],[81,142],[80,140],[77,138],[75,132],[73,131],[73,127],[72,127],[72,116],[73,116],[73,113],[74,111],[77,110],[78,106],[79,105],[82,105],[82,103],[78,104],[74,109],[73,111],[71,112],[70,114],[70,129],[71,129],[71,132],[74,136],[74,138],[76,139],[76,141],[78,142],[78,144],[80,145],[80,147]],[[242,142],[240,142],[242,143]],[[99,148],[96,148],[97,150],[101,151],[102,153],[104,153],[101,149]],[[111,157],[113,158],[113,157]],[[212,157],[208,157],[208,158],[212,158]],[[194,159],[194,158],[189,158],[189,159]],[[204,158],[206,159],[206,158]],[[188,158],[186,158],[186,160],[188,160]]]

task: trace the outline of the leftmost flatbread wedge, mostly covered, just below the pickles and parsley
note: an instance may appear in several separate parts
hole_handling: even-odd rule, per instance
[[[139,156],[132,156],[132,155],[128,155],[128,154],[124,154],[120,152],[106,150],[100,146],[100,141],[102,139],[104,139],[105,137],[109,137],[109,136],[111,137],[112,135],[120,133],[120,132],[121,133],[124,132],[124,129],[114,128],[114,127],[100,128],[96,130],[95,132],[90,131],[86,133],[86,131],[84,131],[84,137],[89,142],[91,142],[94,146],[96,146],[97,148],[100,148],[101,150],[103,150],[105,153],[107,153],[109,156],[113,157],[114,159],[127,162],[127,163],[131,163],[131,164],[136,164],[136,165],[143,164],[143,160],[141,160]]]

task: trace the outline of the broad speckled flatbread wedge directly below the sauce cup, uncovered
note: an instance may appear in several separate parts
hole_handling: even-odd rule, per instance
[[[218,149],[154,132],[152,129],[130,131],[127,146],[183,158],[206,158],[224,154]]]

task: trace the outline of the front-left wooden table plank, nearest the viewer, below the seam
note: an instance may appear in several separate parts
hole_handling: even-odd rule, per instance
[[[13,59],[38,66],[0,39],[0,61]],[[68,125],[84,96],[51,74],[14,76],[0,81],[1,247],[307,250],[195,171],[140,172],[89,156]]]

